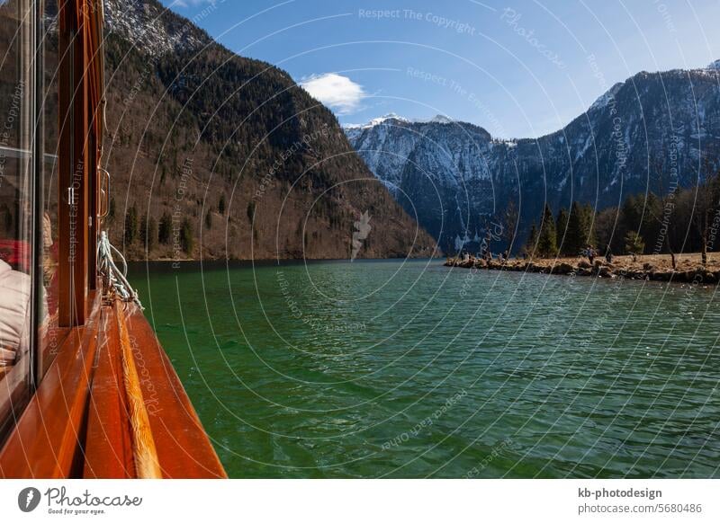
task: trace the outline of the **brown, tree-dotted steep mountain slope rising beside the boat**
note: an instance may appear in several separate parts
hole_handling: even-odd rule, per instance
[[[103,7],[107,226],[130,258],[349,258],[361,219],[359,257],[433,253],[290,75],[238,57],[156,0]]]

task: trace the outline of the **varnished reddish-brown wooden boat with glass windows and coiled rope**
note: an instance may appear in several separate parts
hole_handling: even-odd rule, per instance
[[[227,477],[103,231],[103,1],[0,32],[0,477]]]

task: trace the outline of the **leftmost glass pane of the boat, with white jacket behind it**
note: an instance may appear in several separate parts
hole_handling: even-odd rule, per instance
[[[30,394],[34,17],[0,1],[0,436]]]

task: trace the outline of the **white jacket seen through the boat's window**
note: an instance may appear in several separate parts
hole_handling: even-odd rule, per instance
[[[0,367],[14,365],[28,350],[31,279],[0,260]]]

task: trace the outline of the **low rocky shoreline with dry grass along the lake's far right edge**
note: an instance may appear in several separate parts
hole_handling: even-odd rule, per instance
[[[707,265],[700,262],[699,254],[679,254],[676,256],[674,269],[671,256],[664,254],[635,258],[633,256],[616,256],[612,262],[607,262],[604,258],[596,258],[592,264],[587,258],[527,260],[510,258],[505,262],[499,260],[488,262],[473,256],[466,256],[462,259],[448,258],[445,265],[464,269],[512,270],[609,279],[648,279],[696,285],[716,285],[720,282],[720,256],[717,254],[708,255]]]

